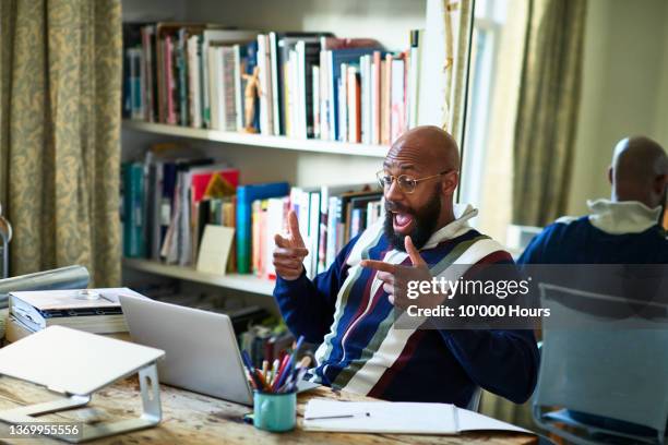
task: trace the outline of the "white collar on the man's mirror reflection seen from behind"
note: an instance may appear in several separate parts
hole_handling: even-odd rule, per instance
[[[587,201],[592,226],[610,234],[640,233],[658,224],[661,207],[649,208],[639,201]]]

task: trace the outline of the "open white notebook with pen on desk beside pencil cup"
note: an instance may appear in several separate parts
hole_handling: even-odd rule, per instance
[[[303,429],[310,431],[457,434],[464,431],[497,430],[533,434],[449,404],[312,399],[307,404],[303,417]]]

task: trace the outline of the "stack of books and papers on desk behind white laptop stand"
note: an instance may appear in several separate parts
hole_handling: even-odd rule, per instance
[[[11,292],[5,339],[13,342],[53,325],[129,339],[119,294],[143,298],[128,288]]]

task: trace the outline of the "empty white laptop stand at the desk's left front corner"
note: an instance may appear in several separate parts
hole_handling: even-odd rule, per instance
[[[62,397],[53,399],[51,395],[48,401],[0,410],[0,420],[11,424],[52,425],[52,420],[48,423],[40,416],[84,407],[94,393],[139,373],[141,397],[136,392],[134,397],[141,398],[142,412],[138,418],[72,424],[73,429],[67,433],[58,429],[45,431],[77,443],[154,426],[162,419],[156,361],[164,354],[159,349],[129,341],[48,326],[0,349],[0,375],[43,386]]]

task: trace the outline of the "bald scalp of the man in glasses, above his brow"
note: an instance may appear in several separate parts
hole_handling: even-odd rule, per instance
[[[392,144],[387,159],[399,157],[415,159],[416,163],[431,166],[439,171],[460,169],[456,141],[434,125],[416,127],[398,137]]]

